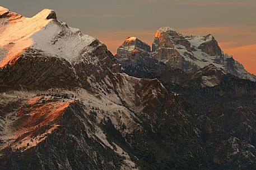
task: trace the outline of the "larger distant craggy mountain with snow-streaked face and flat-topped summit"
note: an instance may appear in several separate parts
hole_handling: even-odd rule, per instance
[[[232,56],[224,54],[212,35],[184,36],[173,28],[161,27],[155,35],[151,56],[187,73],[214,64],[241,79],[256,81],[255,75]]]

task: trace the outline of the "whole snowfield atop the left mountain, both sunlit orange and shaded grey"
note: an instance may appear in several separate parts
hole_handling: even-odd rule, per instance
[[[27,48],[77,61],[86,51],[92,50],[89,45],[96,40],[58,21],[52,9],[44,9],[31,18],[15,17],[16,13],[3,7],[0,12],[4,14],[0,19],[0,51],[7,51],[0,52],[0,67],[15,62]]]

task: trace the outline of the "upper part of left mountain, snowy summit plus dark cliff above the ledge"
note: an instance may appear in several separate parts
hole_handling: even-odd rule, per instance
[[[94,71],[122,72],[103,43],[58,21],[51,9],[26,18],[1,8],[1,25],[1,86],[89,87],[106,74]]]

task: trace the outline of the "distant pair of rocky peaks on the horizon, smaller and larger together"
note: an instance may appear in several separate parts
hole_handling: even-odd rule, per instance
[[[148,64],[148,61],[161,62],[160,65],[180,69],[187,74],[213,64],[241,79],[256,81],[255,75],[247,72],[232,56],[224,54],[212,35],[184,36],[170,27],[161,27],[157,30],[152,51],[149,45],[138,38],[126,38],[117,50],[117,57],[127,70],[133,67],[134,70],[131,72],[143,70],[148,66],[148,69],[151,69],[152,65],[152,69],[159,69],[159,65]],[[148,69],[145,71],[148,72]]]

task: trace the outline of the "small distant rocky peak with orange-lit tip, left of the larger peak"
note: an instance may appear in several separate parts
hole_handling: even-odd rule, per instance
[[[142,42],[137,37],[127,37],[122,46],[117,49],[117,56],[129,58],[129,55],[136,52],[141,53],[143,56],[150,56],[151,48],[147,43]]]

